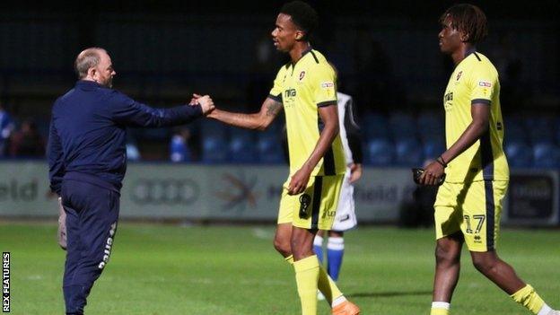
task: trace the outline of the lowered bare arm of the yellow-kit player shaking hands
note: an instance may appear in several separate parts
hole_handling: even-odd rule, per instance
[[[321,131],[319,140],[313,152],[311,152],[310,157],[303,163],[302,168],[293,174],[290,185],[288,186],[288,194],[290,195],[301,194],[303,190],[305,190],[311,172],[338,135],[338,111],[335,103],[333,103],[333,105],[320,107],[319,117],[323,121],[325,127],[323,127]]]

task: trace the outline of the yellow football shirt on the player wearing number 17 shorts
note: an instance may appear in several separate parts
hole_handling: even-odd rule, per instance
[[[490,126],[485,135],[449,163],[446,181],[508,180],[498,73],[490,60],[478,52],[470,53],[456,66],[445,89],[443,107],[448,148],[472,122],[470,109],[475,103],[490,106]]]

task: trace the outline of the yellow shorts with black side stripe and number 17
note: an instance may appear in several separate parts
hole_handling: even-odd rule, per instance
[[[436,239],[461,231],[470,251],[495,249],[508,181],[445,182],[435,204]]]

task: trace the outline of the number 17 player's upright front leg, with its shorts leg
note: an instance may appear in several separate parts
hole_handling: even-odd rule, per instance
[[[463,236],[461,213],[457,207],[462,186],[444,183],[438,190],[433,214],[435,222],[435,275],[433,277],[432,315],[447,315],[459,281],[460,251]]]

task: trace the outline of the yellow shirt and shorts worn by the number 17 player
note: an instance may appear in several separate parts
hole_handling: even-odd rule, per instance
[[[469,250],[487,251],[494,249],[498,236],[509,169],[502,149],[498,73],[481,53],[471,50],[467,54],[451,74],[443,96],[447,147],[473,121],[471,106],[489,107],[488,128],[448,163],[434,205],[435,232],[441,239],[460,230]]]

